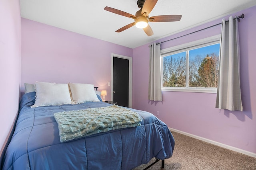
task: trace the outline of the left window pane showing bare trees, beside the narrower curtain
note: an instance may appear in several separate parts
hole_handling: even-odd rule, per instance
[[[163,87],[186,87],[186,52],[163,58]]]

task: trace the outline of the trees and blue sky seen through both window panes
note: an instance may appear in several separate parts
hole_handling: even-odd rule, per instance
[[[216,88],[218,85],[219,49],[220,44],[218,43],[163,57],[162,86]]]

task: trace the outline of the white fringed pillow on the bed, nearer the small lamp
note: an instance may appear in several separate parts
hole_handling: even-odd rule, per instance
[[[100,102],[93,84],[68,83],[73,104]]]

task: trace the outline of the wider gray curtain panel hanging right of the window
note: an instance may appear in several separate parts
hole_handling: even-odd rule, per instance
[[[243,111],[240,90],[238,21],[222,20],[216,108]]]

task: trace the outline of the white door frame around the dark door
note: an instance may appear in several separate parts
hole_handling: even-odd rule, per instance
[[[129,61],[129,99],[128,99],[128,107],[132,107],[132,57],[119,55],[119,54],[111,54],[111,100],[113,101],[113,57],[126,59]]]

